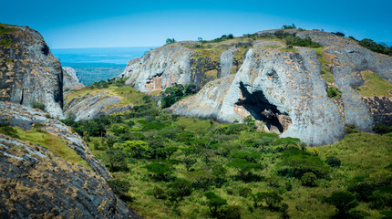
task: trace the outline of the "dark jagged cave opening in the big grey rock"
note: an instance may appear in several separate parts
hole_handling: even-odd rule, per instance
[[[238,99],[236,105],[242,106],[247,110],[255,120],[262,120],[268,130],[275,127],[280,133],[283,133],[291,124],[291,119],[287,113],[281,112],[268,99],[265,98],[263,90],[257,90],[253,93],[240,82],[242,99]],[[285,122],[284,122],[285,120]]]

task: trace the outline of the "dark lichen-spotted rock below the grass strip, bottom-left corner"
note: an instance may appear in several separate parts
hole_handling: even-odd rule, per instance
[[[140,218],[96,172],[0,134],[0,218]]]

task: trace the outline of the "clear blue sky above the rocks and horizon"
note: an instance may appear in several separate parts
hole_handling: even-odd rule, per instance
[[[294,24],[392,45],[391,0],[2,0],[0,23],[29,26],[51,48],[150,47]]]

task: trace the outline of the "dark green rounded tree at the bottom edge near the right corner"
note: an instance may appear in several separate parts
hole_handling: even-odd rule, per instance
[[[348,211],[358,205],[356,197],[347,192],[332,193],[330,197],[325,199],[325,202],[335,206],[337,209],[336,218],[348,218]]]

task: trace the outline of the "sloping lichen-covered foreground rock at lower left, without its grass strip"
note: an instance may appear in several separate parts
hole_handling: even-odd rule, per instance
[[[0,134],[0,218],[140,218],[114,195],[106,168],[66,125],[11,102],[0,102],[0,121],[26,130],[42,124],[92,168]]]

